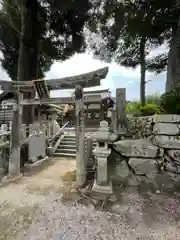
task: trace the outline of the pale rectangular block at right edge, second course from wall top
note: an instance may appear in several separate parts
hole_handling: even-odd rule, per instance
[[[179,135],[180,129],[178,124],[174,123],[156,123],[153,128],[153,134],[155,135]]]

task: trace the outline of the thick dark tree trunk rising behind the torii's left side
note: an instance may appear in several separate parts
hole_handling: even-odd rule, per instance
[[[39,4],[37,0],[24,0],[18,62],[18,81],[31,81],[38,78],[38,55],[40,39],[38,7]],[[34,89],[32,89],[30,92],[24,93],[23,97],[34,98]],[[22,122],[26,124],[32,123],[33,115],[34,107],[23,107]]]

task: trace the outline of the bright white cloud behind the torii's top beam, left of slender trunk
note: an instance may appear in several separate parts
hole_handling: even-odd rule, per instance
[[[109,73],[106,79],[101,80],[101,86],[89,88],[89,90],[97,89],[110,89],[113,91],[115,89],[114,77],[118,77],[119,80],[121,76],[129,78],[129,84],[132,80],[130,79],[139,79],[140,70],[139,68],[135,70],[127,69],[120,67],[115,63],[107,64],[100,60],[94,59],[91,54],[75,54],[71,59],[65,62],[55,62],[51,70],[46,74],[46,79],[48,78],[61,78],[67,76],[74,76],[77,74],[87,73],[93,70],[97,70],[103,67],[109,67]],[[85,89],[86,90],[86,89]],[[54,91],[52,96],[67,96],[71,94],[72,91]]]

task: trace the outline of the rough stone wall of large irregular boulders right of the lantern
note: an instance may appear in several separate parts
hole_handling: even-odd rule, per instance
[[[156,189],[180,186],[180,115],[131,119],[134,139],[115,142],[109,157],[112,179]]]

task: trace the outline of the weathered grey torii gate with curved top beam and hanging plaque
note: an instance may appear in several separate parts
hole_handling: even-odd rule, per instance
[[[21,125],[21,107],[25,105],[34,104],[64,104],[73,103],[75,101],[76,108],[76,181],[77,185],[81,185],[85,181],[85,132],[84,132],[84,101],[83,88],[94,87],[100,85],[100,80],[104,79],[108,73],[108,68],[102,68],[86,74],[81,74],[73,77],[66,77],[60,79],[49,80],[33,80],[33,81],[3,81],[0,80],[0,86],[3,91],[16,92],[19,96],[14,101],[14,123],[12,124],[12,139],[10,149],[9,161],[9,175],[20,175],[20,125]],[[45,90],[58,90],[58,89],[75,89],[74,98],[55,98],[50,99],[48,94],[46,99],[20,99],[20,92],[28,91],[28,89],[35,88],[38,91],[43,87]]]

